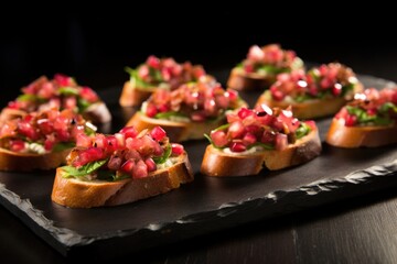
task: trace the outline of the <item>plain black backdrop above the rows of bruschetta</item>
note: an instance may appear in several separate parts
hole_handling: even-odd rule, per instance
[[[150,54],[202,64],[216,75],[243,59],[250,45],[269,43],[294,50],[307,62],[340,62],[360,74],[397,80],[395,23],[387,7],[357,11],[333,3],[310,11],[267,4],[191,2],[175,10],[169,3],[82,9],[68,2],[40,11],[3,10],[0,101],[55,73],[94,89],[121,87],[128,79],[124,67],[136,67]]]

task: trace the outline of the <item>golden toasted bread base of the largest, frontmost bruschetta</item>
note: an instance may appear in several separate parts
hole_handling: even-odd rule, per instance
[[[168,193],[193,178],[186,153],[173,166],[138,179],[84,182],[62,177],[62,168],[57,168],[51,198],[71,208],[118,206]]]

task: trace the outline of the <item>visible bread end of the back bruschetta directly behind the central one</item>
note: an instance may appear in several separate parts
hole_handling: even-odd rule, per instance
[[[154,92],[155,87],[140,88],[127,80],[122,87],[119,103],[121,107],[138,107]]]

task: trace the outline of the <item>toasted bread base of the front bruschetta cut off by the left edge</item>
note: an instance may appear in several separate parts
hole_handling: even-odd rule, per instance
[[[17,153],[0,147],[0,170],[32,172],[52,169],[65,163],[72,148],[46,154]]]

